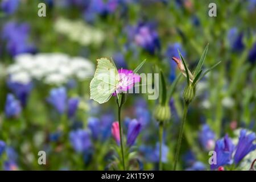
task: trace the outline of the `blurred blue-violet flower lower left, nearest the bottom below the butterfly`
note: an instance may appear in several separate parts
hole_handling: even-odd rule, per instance
[[[71,131],[69,133],[69,139],[76,152],[85,152],[92,146],[88,130],[79,129]]]

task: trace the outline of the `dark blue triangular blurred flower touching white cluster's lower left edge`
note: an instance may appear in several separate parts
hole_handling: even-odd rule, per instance
[[[23,107],[27,105],[27,99],[30,95],[30,92],[33,88],[32,82],[28,84],[22,84],[19,82],[11,82],[10,80],[7,81],[7,86],[15,94],[15,96],[19,99],[20,103]]]

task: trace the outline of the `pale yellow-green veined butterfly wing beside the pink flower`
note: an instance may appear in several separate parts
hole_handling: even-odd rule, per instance
[[[99,104],[108,102],[118,85],[118,71],[113,60],[97,60],[97,68],[90,82],[90,98]]]

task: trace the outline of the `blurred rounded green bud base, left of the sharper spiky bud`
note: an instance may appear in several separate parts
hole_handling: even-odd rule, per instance
[[[171,109],[169,105],[158,105],[155,108],[154,117],[157,121],[163,122],[171,118]]]

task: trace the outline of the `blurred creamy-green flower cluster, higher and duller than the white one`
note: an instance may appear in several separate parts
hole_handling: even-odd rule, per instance
[[[99,45],[104,40],[104,32],[98,30],[82,20],[71,21],[64,18],[56,20],[55,31],[68,36],[69,39],[80,43],[82,46],[90,44]]]

